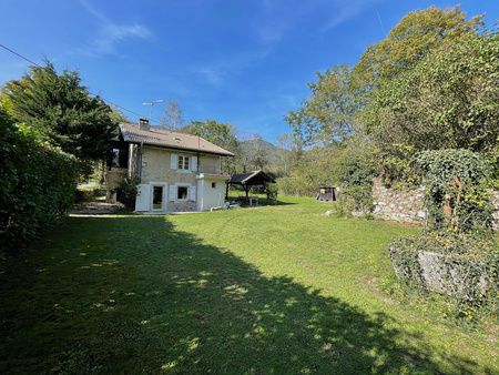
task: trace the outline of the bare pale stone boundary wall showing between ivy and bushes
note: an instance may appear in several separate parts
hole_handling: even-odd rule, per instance
[[[380,179],[373,180],[373,215],[378,219],[404,223],[425,222],[425,188],[411,190],[386,188]],[[499,229],[499,192],[492,193],[496,206],[493,227]]]

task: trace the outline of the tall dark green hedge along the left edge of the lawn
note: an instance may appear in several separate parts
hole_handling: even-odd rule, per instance
[[[74,200],[78,161],[0,108],[0,255],[53,226]]]

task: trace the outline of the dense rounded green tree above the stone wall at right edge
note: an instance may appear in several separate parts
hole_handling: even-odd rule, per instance
[[[467,149],[497,161],[499,36],[470,33],[384,82],[364,115],[388,155]],[[410,151],[410,155],[407,154]]]

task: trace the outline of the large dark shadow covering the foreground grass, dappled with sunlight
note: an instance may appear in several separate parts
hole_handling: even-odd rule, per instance
[[[389,316],[263,275],[167,216],[74,217],[42,251],[30,277],[13,267],[0,280],[0,296],[17,298],[0,307],[9,315],[2,373],[466,374],[477,366],[439,353],[441,369],[421,337],[416,348],[387,328]]]

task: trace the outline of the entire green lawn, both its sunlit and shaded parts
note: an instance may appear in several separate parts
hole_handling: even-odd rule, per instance
[[[0,275],[0,373],[499,373],[496,328],[377,286],[418,229],[284,201],[70,217]]]

